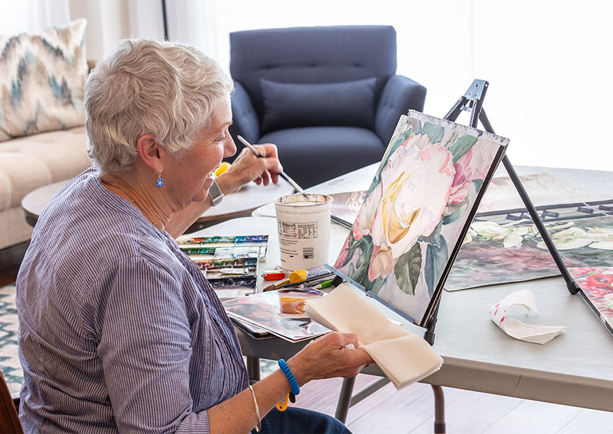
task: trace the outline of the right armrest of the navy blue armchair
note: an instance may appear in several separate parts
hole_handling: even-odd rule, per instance
[[[392,75],[381,91],[381,99],[374,114],[374,131],[387,146],[398,119],[411,109],[421,112],[426,89],[401,75]]]

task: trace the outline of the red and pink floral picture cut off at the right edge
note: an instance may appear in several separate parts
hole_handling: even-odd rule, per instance
[[[613,333],[613,267],[579,267],[568,271]]]

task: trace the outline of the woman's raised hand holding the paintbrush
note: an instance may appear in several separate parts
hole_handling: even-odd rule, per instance
[[[265,157],[260,158],[245,147],[230,168],[217,177],[217,184],[223,194],[236,192],[250,181],[257,185],[268,185],[270,181],[274,184],[279,182],[283,167],[277,156],[277,146],[266,143],[256,145],[255,148]]]

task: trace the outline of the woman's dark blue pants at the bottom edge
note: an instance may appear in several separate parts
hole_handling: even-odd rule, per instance
[[[255,430],[251,431],[255,433]],[[288,407],[285,411],[274,408],[262,420],[261,434],[319,434],[349,433],[343,423],[332,416],[316,411]]]

